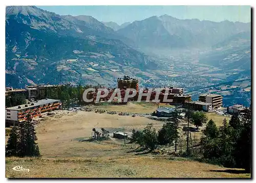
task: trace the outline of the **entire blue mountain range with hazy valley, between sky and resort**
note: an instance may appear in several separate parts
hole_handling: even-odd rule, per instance
[[[201,73],[228,72],[230,81],[234,73],[237,80],[250,74],[250,29],[250,23],[168,15],[118,25],[92,16],[10,6],[6,8],[6,86],[67,82],[116,86],[122,75],[138,77],[141,86],[157,86],[179,83],[176,76],[182,82],[186,75],[200,78],[200,69],[207,66],[211,71]]]

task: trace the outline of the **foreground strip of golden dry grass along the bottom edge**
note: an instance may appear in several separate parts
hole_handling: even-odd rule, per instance
[[[30,172],[12,170],[17,165],[29,168]],[[108,160],[6,159],[6,177],[250,177],[250,174],[236,174],[238,171],[186,159],[143,156]]]

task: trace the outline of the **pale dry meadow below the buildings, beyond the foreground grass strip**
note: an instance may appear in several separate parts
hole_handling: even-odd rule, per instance
[[[115,157],[126,155],[124,149],[113,145],[103,145],[93,142],[79,142],[79,139],[89,138],[92,128],[108,129],[113,136],[116,130],[130,133],[133,128],[143,129],[148,123],[156,128],[162,126],[161,121],[150,120],[144,117],[98,114],[94,112],[62,111],[57,115],[47,117],[36,127],[38,145],[41,154],[46,158],[73,158],[73,157]],[[67,114],[66,114],[67,113]]]

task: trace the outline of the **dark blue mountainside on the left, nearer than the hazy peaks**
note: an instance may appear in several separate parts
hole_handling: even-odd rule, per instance
[[[34,6],[7,7],[6,86],[109,85],[120,75],[115,71],[125,67],[157,67],[121,40],[126,38],[91,16],[60,16]]]

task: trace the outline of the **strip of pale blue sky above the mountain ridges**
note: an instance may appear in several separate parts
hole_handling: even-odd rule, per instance
[[[60,15],[91,15],[99,21],[142,20],[164,14],[179,18],[211,21],[250,22],[250,6],[37,6]]]

